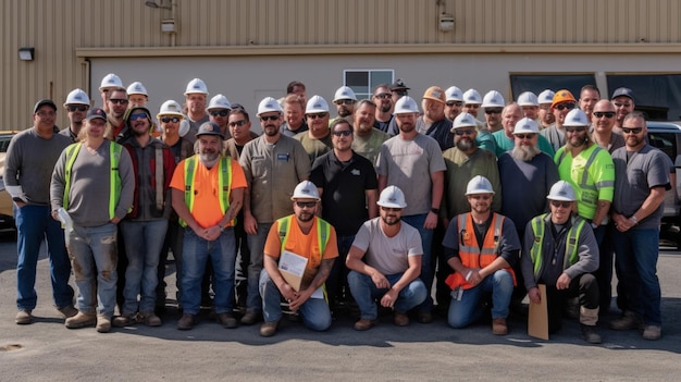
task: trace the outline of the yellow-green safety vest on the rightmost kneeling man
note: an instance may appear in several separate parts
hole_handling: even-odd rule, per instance
[[[530,259],[532,259],[532,264],[534,266],[534,279],[538,280],[543,270],[543,257],[542,257],[542,247],[544,246],[544,234],[546,229],[546,220],[548,218],[548,213],[544,213],[532,219],[532,233],[534,234],[534,244],[532,248],[530,248]],[[572,215],[571,218],[571,226],[568,230],[568,237],[566,239],[566,249],[562,260],[562,269],[567,269],[570,266],[574,264],[579,260],[579,238],[582,234],[582,229],[584,229],[584,224],[586,221],[579,215]]]

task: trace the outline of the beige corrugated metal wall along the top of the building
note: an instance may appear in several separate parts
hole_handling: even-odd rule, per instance
[[[151,9],[144,0],[0,0],[0,130],[25,128],[34,102],[52,97],[62,103],[75,87],[88,87],[87,62],[76,49],[258,47],[262,54],[342,45],[367,53],[405,46],[432,46],[466,52],[495,45],[498,50],[534,50],[548,45],[590,45],[635,51],[640,44],[679,51],[679,0],[172,0],[174,9]],[[157,0],[169,4],[171,0]],[[438,30],[441,12],[453,14],[454,32]],[[174,17],[175,36],[160,32]],[[540,46],[534,46],[541,44]],[[375,49],[366,49],[366,45]],[[281,50],[282,46],[290,49]],[[34,47],[35,60],[20,61],[20,47]],[[538,48],[537,48],[538,47]],[[320,48],[320,49],[321,49]],[[333,49],[332,49],[333,50]],[[245,54],[240,52],[240,54]],[[246,53],[248,54],[248,53]],[[96,87],[96,86],[95,86]],[[92,95],[98,97],[98,95]],[[62,111],[58,119],[65,120]]]

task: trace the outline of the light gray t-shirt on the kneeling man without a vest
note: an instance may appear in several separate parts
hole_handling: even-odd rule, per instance
[[[409,257],[423,255],[421,235],[403,221],[397,235],[387,237],[380,220],[381,217],[366,221],[355,235],[352,246],[364,250],[364,262],[384,275],[403,273],[409,268]]]

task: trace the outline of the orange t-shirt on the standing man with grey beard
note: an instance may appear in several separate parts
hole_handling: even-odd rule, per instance
[[[186,159],[185,159],[186,160]],[[185,192],[185,160],[177,163],[175,172],[173,173],[173,180],[171,181],[171,187]],[[231,160],[232,167],[232,184],[230,189],[246,188],[246,175],[244,175],[244,169],[235,160]],[[220,210],[220,177],[218,173],[219,163],[215,163],[212,169],[206,168],[200,160],[196,161],[196,176],[194,177],[194,190],[196,193],[194,197],[194,211],[191,217],[194,220],[202,226],[209,227],[218,224],[224,217],[224,212]],[[230,222],[227,226],[232,225]]]

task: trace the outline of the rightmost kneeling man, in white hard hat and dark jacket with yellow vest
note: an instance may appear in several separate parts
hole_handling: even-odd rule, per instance
[[[573,213],[577,196],[566,181],[558,181],[546,197],[550,212],[533,218],[525,227],[520,258],[524,286],[534,304],[546,300],[548,333],[561,328],[569,298],[579,297],[582,338],[599,344],[598,284],[591,273],[598,268],[598,244],[591,225]],[[546,285],[546,295],[538,284]]]

